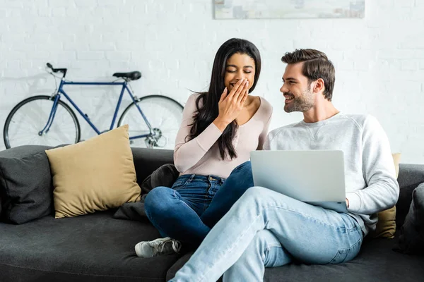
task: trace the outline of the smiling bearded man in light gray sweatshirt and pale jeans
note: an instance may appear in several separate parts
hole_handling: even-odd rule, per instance
[[[269,133],[265,149],[341,149],[348,213],[312,206],[278,192],[249,188],[216,223],[172,281],[262,281],[264,268],[296,259],[338,264],[353,259],[393,207],[399,185],[387,135],[375,118],[339,112],[331,103],[334,66],[321,51],[286,53],[284,110],[303,120]],[[307,171],[305,171],[307,177]]]

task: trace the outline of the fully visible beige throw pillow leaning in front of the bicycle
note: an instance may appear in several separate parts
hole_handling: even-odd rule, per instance
[[[140,200],[128,125],[46,151],[55,217],[78,216]]]

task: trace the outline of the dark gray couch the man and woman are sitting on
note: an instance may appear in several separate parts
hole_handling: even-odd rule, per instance
[[[0,152],[0,162],[44,149],[48,147],[9,149]],[[172,151],[133,149],[133,154],[139,184],[162,164],[172,163]],[[411,192],[423,182],[424,165],[400,165],[398,226],[408,213]],[[54,219],[52,211],[23,224],[0,222],[0,281],[166,281],[189,259],[191,254],[136,257],[134,245],[159,233],[147,219],[114,219],[114,212]],[[423,281],[423,255],[394,252],[398,237],[399,231],[392,240],[366,240],[358,257],[345,264],[266,269],[264,281]]]

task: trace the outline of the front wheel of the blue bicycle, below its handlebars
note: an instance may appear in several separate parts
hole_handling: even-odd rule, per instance
[[[8,114],[4,124],[3,138],[6,148],[21,145],[57,146],[76,143],[80,139],[80,125],[72,109],[58,101],[57,111],[48,132],[42,135],[49,120],[54,98],[34,96],[24,99]]]

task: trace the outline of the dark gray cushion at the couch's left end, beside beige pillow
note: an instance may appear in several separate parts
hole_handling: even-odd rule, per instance
[[[7,157],[0,155],[0,218],[8,223],[21,224],[52,213],[47,156],[41,148],[22,151],[17,147],[8,150]]]

